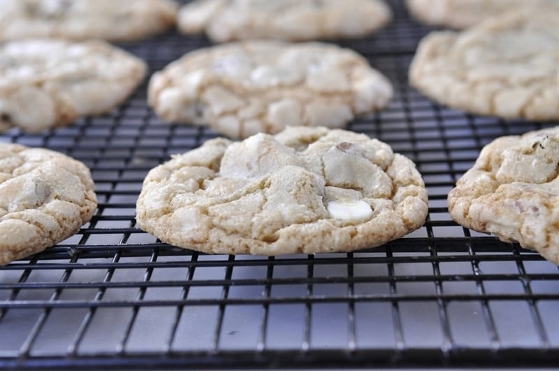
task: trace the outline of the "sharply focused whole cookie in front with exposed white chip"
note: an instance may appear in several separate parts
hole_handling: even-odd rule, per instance
[[[289,127],[242,142],[208,140],[150,170],[138,226],[210,254],[349,252],[423,225],[414,163],[364,134]]]

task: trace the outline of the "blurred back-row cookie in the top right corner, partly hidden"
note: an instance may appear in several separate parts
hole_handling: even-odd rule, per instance
[[[548,7],[559,9],[556,0],[407,0],[407,10],[417,20],[432,26],[453,29],[472,27],[512,9]]]

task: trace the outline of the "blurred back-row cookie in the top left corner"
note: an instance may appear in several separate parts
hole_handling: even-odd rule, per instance
[[[172,0],[6,0],[0,40],[136,40],[173,26],[177,10]]]

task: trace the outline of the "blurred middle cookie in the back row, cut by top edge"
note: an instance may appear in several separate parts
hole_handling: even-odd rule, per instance
[[[380,0],[198,0],[180,9],[177,23],[185,34],[205,32],[218,43],[314,41],[372,34],[391,17]]]

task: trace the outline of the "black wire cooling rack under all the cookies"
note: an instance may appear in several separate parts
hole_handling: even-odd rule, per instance
[[[558,267],[458,226],[446,205],[483,145],[553,123],[467,115],[410,88],[407,68],[429,29],[391,6],[388,28],[341,43],[395,87],[388,108],[349,129],[414,159],[430,196],[422,228],[316,256],[210,256],[158,242],[136,228],[143,178],[216,133],[160,122],[146,81],[109,115],[0,136],[82,160],[99,198],[77,235],[0,268],[0,368],[558,365]],[[121,46],[153,72],[206,45],[170,32]]]

